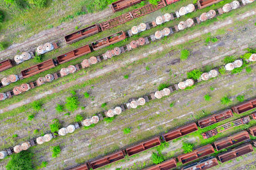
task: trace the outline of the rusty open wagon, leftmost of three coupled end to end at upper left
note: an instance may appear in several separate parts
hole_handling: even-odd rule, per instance
[[[22,70],[21,74],[23,78],[28,78],[52,67],[55,67],[54,61],[52,59],[49,59],[44,62],[41,62],[40,64],[36,64],[35,66],[29,67],[28,69]]]

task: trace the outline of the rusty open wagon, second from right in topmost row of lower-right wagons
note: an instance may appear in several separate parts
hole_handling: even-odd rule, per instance
[[[221,122],[227,118],[233,117],[232,110],[221,111],[221,113],[216,113],[206,118],[202,118],[198,120],[198,125],[200,128],[207,127],[212,124],[216,124],[217,122]]]

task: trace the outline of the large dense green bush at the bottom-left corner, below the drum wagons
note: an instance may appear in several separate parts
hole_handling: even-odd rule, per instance
[[[32,164],[32,153],[30,153],[28,150],[13,154],[12,158],[6,165],[6,170],[19,169],[34,169]]]

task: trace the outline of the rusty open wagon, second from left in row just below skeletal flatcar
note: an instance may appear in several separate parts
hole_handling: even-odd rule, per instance
[[[186,164],[201,157],[205,157],[206,155],[210,155],[211,153],[214,153],[214,148],[212,147],[212,145],[209,144],[202,146],[201,148],[198,148],[193,152],[179,155],[179,157],[177,158],[179,162],[182,162],[182,164]]]

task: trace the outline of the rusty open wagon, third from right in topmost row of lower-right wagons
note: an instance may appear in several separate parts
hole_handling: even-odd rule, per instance
[[[181,136],[184,136],[186,134],[189,134],[191,132],[195,132],[198,130],[198,127],[195,123],[184,125],[182,127],[179,127],[176,130],[170,131],[163,135],[165,141],[172,141],[173,139],[180,138]]]

